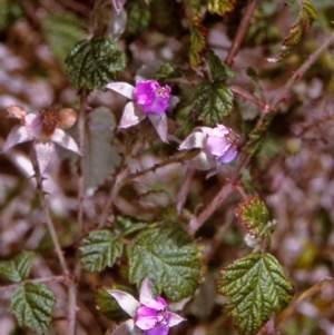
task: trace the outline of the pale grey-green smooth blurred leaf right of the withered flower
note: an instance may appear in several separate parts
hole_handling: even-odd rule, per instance
[[[92,110],[88,117],[84,152],[86,187],[95,188],[115,173],[121,161],[119,145],[114,141],[116,120],[105,107]]]

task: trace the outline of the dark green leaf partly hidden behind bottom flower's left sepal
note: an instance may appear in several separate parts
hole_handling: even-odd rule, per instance
[[[108,287],[108,289],[119,289],[127,292],[131,295],[135,294],[128,286],[122,285],[112,285]],[[99,287],[95,293],[95,304],[96,308],[99,309],[104,315],[108,318],[119,323],[126,318],[128,318],[128,314],[125,313],[117,300],[102,287]]]

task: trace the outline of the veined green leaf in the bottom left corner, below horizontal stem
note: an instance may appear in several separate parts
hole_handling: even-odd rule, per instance
[[[48,329],[51,321],[51,307],[56,298],[45,285],[27,283],[17,287],[10,298],[10,312],[20,326],[28,326],[41,333]]]

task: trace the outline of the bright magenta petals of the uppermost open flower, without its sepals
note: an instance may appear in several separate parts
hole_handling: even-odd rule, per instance
[[[137,82],[134,100],[144,112],[161,115],[168,107],[170,87],[161,87],[156,80]]]

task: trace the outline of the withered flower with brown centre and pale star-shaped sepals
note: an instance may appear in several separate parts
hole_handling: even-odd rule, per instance
[[[2,148],[3,152],[18,144],[32,140],[41,174],[51,160],[55,144],[81,155],[75,140],[58,128],[69,128],[75,124],[77,119],[75,110],[69,108],[58,110],[49,106],[39,114],[27,114],[22,107],[11,105],[8,111],[10,116],[20,119],[21,125],[14,126],[9,132]]]

